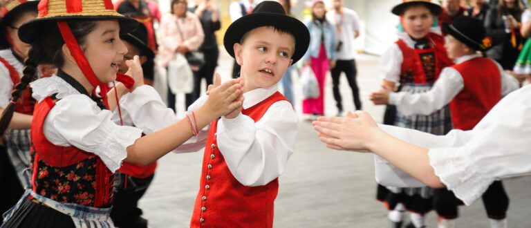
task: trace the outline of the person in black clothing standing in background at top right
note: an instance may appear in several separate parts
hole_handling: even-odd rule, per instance
[[[523,48],[523,38],[519,32],[523,10],[520,1],[503,0],[487,11],[485,29],[487,35],[492,37],[493,44],[497,44],[487,51],[487,57],[498,61],[505,70],[513,69]]]

